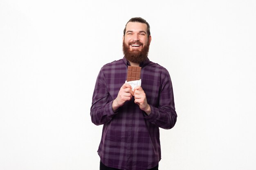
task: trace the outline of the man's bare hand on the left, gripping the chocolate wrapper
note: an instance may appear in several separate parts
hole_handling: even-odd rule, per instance
[[[112,103],[113,111],[123,106],[126,101],[131,100],[133,93],[132,86],[124,83],[118,92],[117,98]]]

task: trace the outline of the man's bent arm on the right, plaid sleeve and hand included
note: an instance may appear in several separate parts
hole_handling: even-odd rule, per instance
[[[147,103],[146,94],[140,86],[135,87],[134,94],[135,103],[137,103],[140,109],[146,113],[146,120],[163,129],[171,129],[175,125],[177,114],[175,111],[173,87],[169,74],[162,80],[158,107],[154,107]]]

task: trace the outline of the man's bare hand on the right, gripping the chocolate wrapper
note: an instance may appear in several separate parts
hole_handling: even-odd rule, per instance
[[[146,94],[141,86],[134,88],[134,102],[139,105],[139,108],[145,111],[148,115],[151,113],[150,105],[148,105]]]

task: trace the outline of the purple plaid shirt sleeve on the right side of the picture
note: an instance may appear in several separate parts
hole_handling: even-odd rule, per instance
[[[171,129],[176,123],[177,113],[175,111],[173,86],[169,74],[162,79],[161,85],[159,105],[154,107],[149,103],[151,113],[149,116],[145,116],[145,119],[163,129]]]

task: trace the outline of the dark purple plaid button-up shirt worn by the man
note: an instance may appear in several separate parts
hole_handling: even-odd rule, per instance
[[[91,107],[92,122],[104,124],[98,154],[108,167],[146,170],[161,159],[159,127],[171,129],[176,122],[173,87],[168,71],[157,63],[141,63],[141,87],[151,113],[134,103],[134,97],[113,112],[112,102],[126,81],[126,58],[104,65],[97,77]]]

